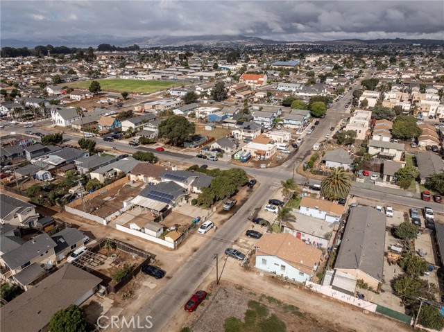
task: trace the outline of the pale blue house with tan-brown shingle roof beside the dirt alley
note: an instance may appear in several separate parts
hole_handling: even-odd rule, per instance
[[[266,233],[255,244],[255,267],[303,283],[318,269],[322,251],[291,234]]]

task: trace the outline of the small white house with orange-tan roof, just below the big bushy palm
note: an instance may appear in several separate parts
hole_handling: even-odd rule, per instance
[[[345,207],[337,202],[308,196],[302,197],[299,204],[299,213],[328,222],[339,222],[344,211]]]

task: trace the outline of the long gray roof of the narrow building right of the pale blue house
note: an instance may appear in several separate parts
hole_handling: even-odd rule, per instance
[[[334,268],[361,270],[382,281],[386,216],[373,207],[353,207]]]

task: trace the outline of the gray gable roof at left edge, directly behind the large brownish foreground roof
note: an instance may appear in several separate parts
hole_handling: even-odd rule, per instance
[[[2,259],[11,270],[15,270],[53,247],[56,247],[56,243],[48,234],[42,234],[4,254]]]

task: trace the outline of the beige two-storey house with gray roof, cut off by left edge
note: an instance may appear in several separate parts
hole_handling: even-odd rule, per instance
[[[0,194],[0,221],[18,227],[33,228],[37,226],[39,214],[35,205],[18,200],[6,194]]]

